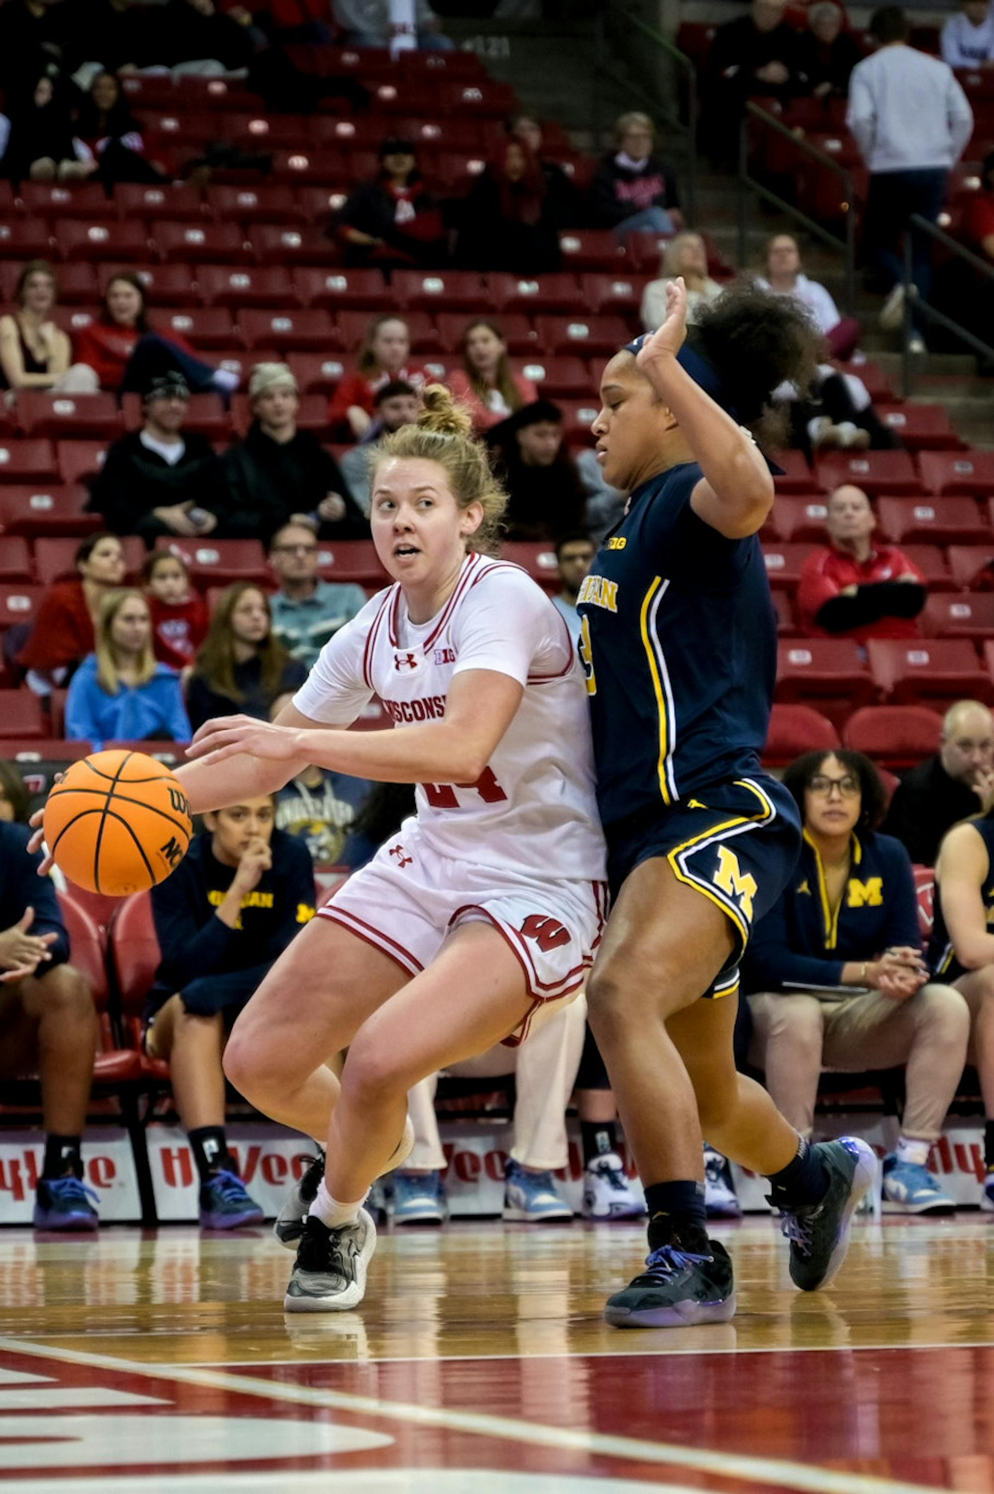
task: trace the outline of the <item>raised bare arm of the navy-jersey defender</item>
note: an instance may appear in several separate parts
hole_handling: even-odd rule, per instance
[[[773,508],[773,478],[755,441],[677,363],[686,338],[686,287],[667,285],[667,320],[643,342],[637,363],[673,411],[704,477],[691,495],[694,512],[728,539],[755,535]]]

